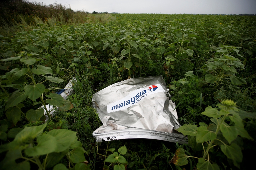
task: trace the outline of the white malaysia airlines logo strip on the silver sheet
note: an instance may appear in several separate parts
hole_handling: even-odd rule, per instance
[[[160,84],[154,84],[144,88],[134,90],[125,98],[107,105],[108,113],[123,110],[132,106],[135,103],[140,102],[148,95],[152,95],[159,92],[166,92]]]

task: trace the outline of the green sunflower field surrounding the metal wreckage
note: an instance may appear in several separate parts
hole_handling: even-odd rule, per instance
[[[2,31],[1,169],[248,169],[256,152],[255,16],[90,17],[21,20],[15,34]],[[147,76],[163,76],[188,144],[96,143],[102,123],[92,94]],[[55,92],[72,77],[74,94],[64,101]],[[38,108],[46,104],[60,110],[45,123]]]

